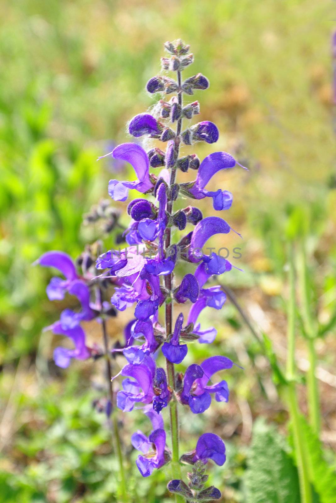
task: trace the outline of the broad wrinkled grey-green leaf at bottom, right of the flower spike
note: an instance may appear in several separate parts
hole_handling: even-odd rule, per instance
[[[298,503],[297,470],[285,439],[273,426],[257,421],[244,475],[246,503]]]

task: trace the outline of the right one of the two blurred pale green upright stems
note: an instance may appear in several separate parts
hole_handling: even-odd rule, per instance
[[[298,277],[300,286],[301,315],[308,340],[308,359],[309,369],[307,372],[307,394],[309,422],[314,433],[319,436],[320,432],[320,412],[319,412],[319,393],[316,379],[316,323],[314,323],[311,313],[311,303],[309,286],[307,280],[307,261],[305,243],[302,239],[299,244],[298,253]]]

